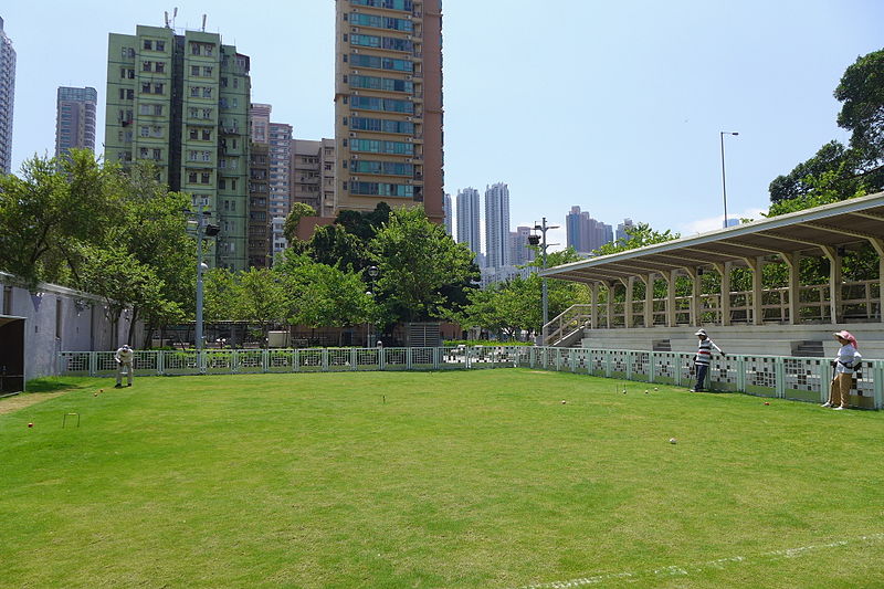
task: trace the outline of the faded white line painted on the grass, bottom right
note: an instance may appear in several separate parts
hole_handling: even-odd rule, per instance
[[[798,548],[786,548],[782,550],[771,550],[769,553],[761,553],[756,556],[732,556],[727,558],[719,558],[717,560],[708,560],[706,562],[698,562],[694,565],[670,565],[657,569],[648,569],[641,571],[624,571],[624,572],[609,572],[606,575],[593,575],[590,577],[581,577],[579,579],[570,579],[567,581],[551,581],[540,582],[534,585],[524,585],[519,589],[570,589],[572,587],[586,587],[589,585],[600,585],[608,581],[625,580],[628,582],[639,582],[642,579],[653,577],[685,577],[688,575],[696,575],[708,569],[724,569],[728,565],[739,562],[757,561],[771,561],[783,558],[801,558],[812,553],[823,550],[825,548],[839,548],[841,546],[849,546],[851,544],[860,543],[878,543],[884,541],[884,533],[870,534],[867,536],[857,536],[846,540],[836,540],[828,544],[817,544],[811,546],[800,546]]]

